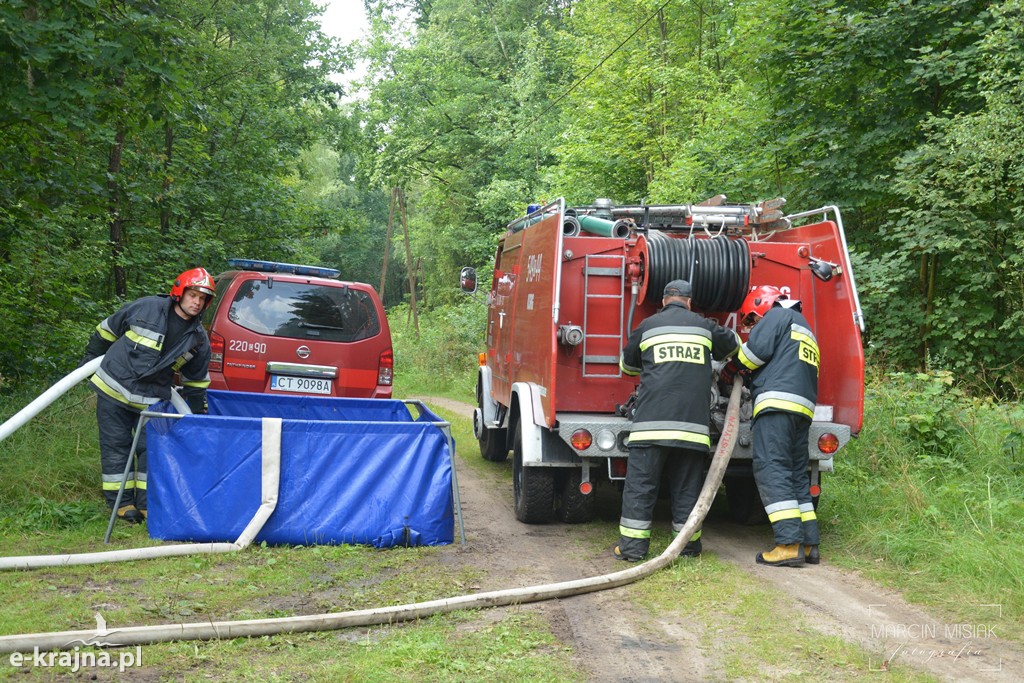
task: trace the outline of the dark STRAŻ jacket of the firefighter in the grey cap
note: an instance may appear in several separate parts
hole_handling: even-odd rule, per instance
[[[630,335],[620,357],[640,375],[630,445],[711,450],[712,356],[723,360],[739,336],[681,303],[671,302]]]

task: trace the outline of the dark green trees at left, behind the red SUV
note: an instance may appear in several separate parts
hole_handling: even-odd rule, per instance
[[[336,125],[344,59],[314,16],[310,0],[0,5],[0,374],[67,372],[119,300],[305,237],[296,159]]]

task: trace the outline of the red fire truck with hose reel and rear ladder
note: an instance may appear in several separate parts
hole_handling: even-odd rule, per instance
[[[808,472],[817,501],[821,473],[861,428],[863,315],[840,210],[784,215],[784,204],[719,196],[696,205],[598,200],[567,208],[559,200],[509,223],[495,256],[473,431],[484,459],[502,462],[512,452],[517,519],[587,521],[595,485],[621,485],[637,378],[621,372],[620,352],[678,279],[692,284],[694,310],[732,329],[752,287],[773,285],[803,302],[821,351]],[[463,268],[462,289],[475,291],[476,278]],[[713,388],[708,400],[714,441],[727,396]],[[744,402],[725,489],[733,517],[753,523],[764,510]]]

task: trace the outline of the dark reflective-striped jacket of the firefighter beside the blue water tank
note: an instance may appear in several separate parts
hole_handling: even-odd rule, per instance
[[[164,346],[174,302],[166,294],[126,303],[96,326],[83,362],[105,354],[92,384],[103,395],[135,410],[171,397],[174,373],[190,405],[205,402],[210,385],[210,340],[200,316],[189,322],[173,348]]]

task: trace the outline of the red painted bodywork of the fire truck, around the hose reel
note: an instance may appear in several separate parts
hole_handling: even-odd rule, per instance
[[[560,414],[612,415],[626,401],[638,381],[618,369],[628,324],[635,328],[662,304],[660,292],[648,291],[648,232],[627,238],[567,234],[563,212],[560,204],[551,205],[513,223],[501,239],[486,332],[489,398],[509,407],[513,384],[535,386],[535,421],[550,429],[557,427]],[[677,227],[664,234],[699,241],[713,233]],[[841,228],[821,220],[763,236],[754,230],[729,234],[748,244],[749,287],[773,285],[803,302],[821,351],[818,403],[826,409],[821,419],[847,425],[856,434],[863,415],[864,353]],[[815,260],[836,266],[834,276],[815,276],[810,267]],[[736,329],[735,310],[706,311],[694,304],[698,312]],[[583,342],[560,340],[559,328],[565,327],[580,328]]]

